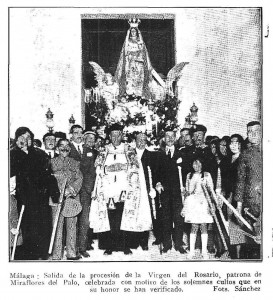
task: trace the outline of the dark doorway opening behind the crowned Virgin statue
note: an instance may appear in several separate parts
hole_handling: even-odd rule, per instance
[[[82,84],[95,86],[89,61],[98,63],[105,72],[115,74],[120,52],[129,28],[127,19],[82,19]],[[153,68],[166,76],[175,65],[174,19],[141,19],[139,29],[148,49]],[[85,114],[86,129],[92,121]]]

